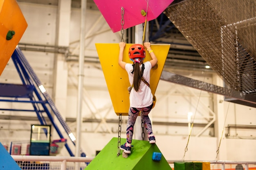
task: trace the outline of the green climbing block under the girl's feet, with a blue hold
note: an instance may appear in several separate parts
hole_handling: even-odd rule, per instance
[[[128,158],[117,157],[118,138],[112,138],[99,154],[89,163],[85,170],[172,170],[164,156],[160,161],[153,161],[153,152],[160,152],[156,144],[148,141],[132,140],[132,150]],[[121,139],[124,144],[126,139]]]

